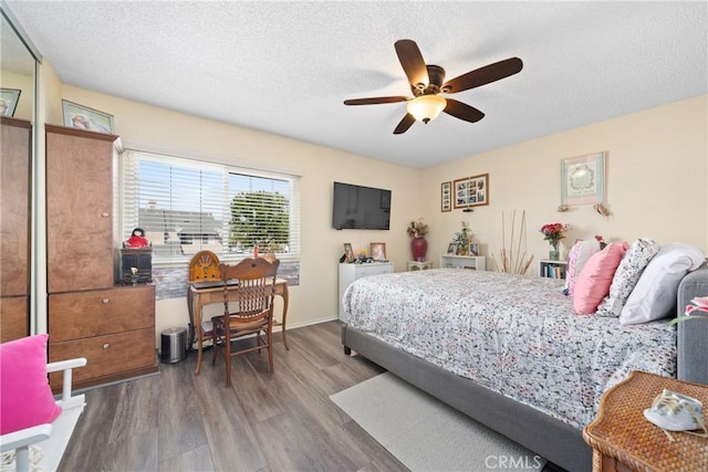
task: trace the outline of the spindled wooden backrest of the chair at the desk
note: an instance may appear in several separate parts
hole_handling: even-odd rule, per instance
[[[219,264],[223,284],[223,311],[231,316],[249,319],[272,311],[275,277],[280,261],[247,258],[235,265]],[[233,285],[238,284],[238,289]],[[238,290],[238,308],[229,312],[229,291]]]

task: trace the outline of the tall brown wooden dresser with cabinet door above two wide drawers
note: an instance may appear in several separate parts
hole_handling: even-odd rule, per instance
[[[50,361],[86,357],[74,388],[157,371],[155,286],[115,284],[117,136],[45,129]]]

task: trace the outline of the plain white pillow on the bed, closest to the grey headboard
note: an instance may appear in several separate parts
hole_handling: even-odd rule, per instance
[[[678,284],[705,261],[704,252],[690,244],[663,247],[649,261],[620,313],[620,324],[635,325],[670,315]]]

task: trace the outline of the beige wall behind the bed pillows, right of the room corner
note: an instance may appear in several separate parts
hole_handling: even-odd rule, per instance
[[[538,273],[539,259],[546,259],[551,249],[539,229],[552,222],[572,225],[564,240],[568,245],[576,238],[602,234],[611,241],[632,242],[639,237],[662,243],[680,241],[706,251],[707,115],[708,96],[702,95],[428,168],[421,214],[431,227],[429,247],[437,258],[467,220],[477,239],[488,245],[486,255],[493,253],[499,260],[502,212],[509,250],[516,210],[517,237],[525,211],[521,252],[528,249],[534,255],[532,273]],[[606,204],[612,216],[601,217],[592,204],[558,212],[561,160],[597,151],[606,151]],[[486,172],[489,206],[472,213],[440,212],[440,182]]]

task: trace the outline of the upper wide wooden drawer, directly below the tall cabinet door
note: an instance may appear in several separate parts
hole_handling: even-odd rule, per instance
[[[154,326],[154,285],[60,293],[49,296],[51,343]]]

